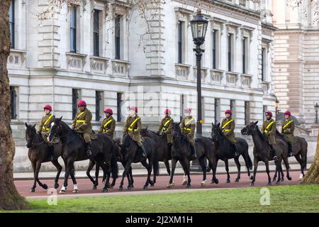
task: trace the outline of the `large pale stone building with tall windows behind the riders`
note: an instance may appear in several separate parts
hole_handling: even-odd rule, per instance
[[[11,85],[16,163],[26,159],[24,122],[36,123],[43,106],[71,123],[77,100],[94,114],[94,128],[111,108],[121,129],[126,107],[140,108],[155,128],[163,109],[179,121],[190,106],[196,117],[196,60],[190,21],[198,1],[13,0],[10,10]],[[274,111],[272,2],[201,1],[208,20],[202,59],[203,132],[233,109],[237,133]],[[43,13],[46,9],[51,9]],[[146,18],[146,20],[145,20]],[[25,165],[21,165],[23,168]],[[16,169],[18,165],[16,165]]]

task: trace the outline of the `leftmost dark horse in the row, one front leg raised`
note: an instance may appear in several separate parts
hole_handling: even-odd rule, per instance
[[[53,165],[57,168],[57,176],[55,177],[55,189],[59,187],[58,180],[60,177],[60,173],[62,171],[62,166],[57,161],[57,157],[60,157],[62,153],[62,143],[57,143],[54,145],[54,160],[51,160],[51,155],[49,152],[49,146],[47,143],[43,141],[41,135],[37,134],[35,130],[35,125],[28,125],[26,123],[26,141],[28,148],[28,157],[31,161],[33,174],[34,174],[34,183],[33,187],[31,187],[30,192],[35,192],[36,183],[43,187],[43,189],[47,189],[47,184],[43,184],[39,179],[39,171],[41,164],[43,162],[52,162]]]

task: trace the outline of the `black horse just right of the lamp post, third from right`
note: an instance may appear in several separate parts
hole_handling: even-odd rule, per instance
[[[218,160],[223,160],[225,162],[225,169],[227,172],[227,182],[230,183],[230,175],[229,175],[229,168],[228,168],[228,160],[233,158],[236,165],[237,165],[237,178],[235,182],[239,182],[240,180],[240,162],[239,157],[242,157],[245,160],[245,165],[247,167],[247,175],[250,176],[250,170],[252,170],[252,160],[250,159],[250,155],[248,153],[248,143],[243,138],[237,138],[237,152],[238,155],[235,157],[235,154],[231,148],[230,140],[226,138],[223,134],[223,131],[220,129],[220,123],[212,124],[211,129],[211,138],[213,139],[215,145],[215,162],[213,164],[213,180],[212,183],[218,184],[218,179],[216,178],[216,168],[218,165]]]

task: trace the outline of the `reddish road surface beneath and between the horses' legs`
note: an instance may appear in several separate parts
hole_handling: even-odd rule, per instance
[[[274,172],[271,173],[271,176],[274,175]],[[286,175],[286,173],[285,173]],[[284,182],[281,182],[280,185],[286,185],[286,184],[298,184],[298,177],[300,175],[299,171],[293,171],[291,172],[291,177],[292,180],[289,181],[288,179],[284,179]],[[219,179],[219,184],[211,184],[211,172],[208,173],[207,177],[207,182],[204,187],[201,187],[201,181],[202,181],[202,175],[201,174],[192,174],[191,175],[191,189],[221,189],[221,188],[236,188],[236,187],[250,187],[250,178],[246,174],[242,174],[240,182],[235,182],[235,178],[237,177],[236,174],[231,174],[230,175],[230,183],[226,183],[227,176],[225,174],[223,175],[216,175]],[[183,176],[181,175],[176,175],[174,177],[174,182],[176,182],[175,186],[172,188],[167,188],[167,184],[169,182],[169,176],[158,176],[157,177],[157,182],[155,184],[155,187],[148,187],[147,192],[164,192],[167,191],[172,191],[174,189],[179,189],[178,191],[180,192],[181,189],[185,189],[184,186],[181,185],[181,182],[183,180]],[[118,187],[120,183],[120,179],[117,180],[116,182],[116,187],[114,189],[109,189],[108,194],[140,194],[140,192],[145,192],[146,190],[142,189],[146,181],[145,176],[135,176],[134,177],[134,189],[128,191],[126,189],[127,187],[127,180],[125,179],[124,182],[124,190],[123,192],[120,192]],[[62,185],[62,179],[60,179],[59,183],[60,186]],[[85,196],[89,196],[89,194],[94,194],[94,196],[99,196],[101,195],[101,189],[102,189],[102,184],[101,184],[101,178],[99,179],[99,186],[98,189],[94,190],[92,189],[92,184],[89,179],[78,179],[77,180],[78,185],[79,185],[79,193],[77,196],[81,196],[82,194]],[[49,188],[53,187],[53,179],[45,179],[43,180],[43,183],[47,184]],[[15,181],[16,187],[18,189],[18,192],[20,192],[23,196],[27,197],[37,197],[37,196],[47,196],[47,190],[41,188],[38,186],[35,189],[35,192],[31,193],[29,192],[30,187],[33,185],[33,180],[16,180]],[[275,182],[273,184],[274,186],[276,185]],[[255,187],[264,187],[267,186],[267,174],[266,172],[257,172],[257,177],[256,177],[256,182],[255,182]],[[60,189],[60,188],[59,188]],[[69,179],[69,187],[67,188],[67,193],[66,194],[59,194],[61,196],[70,196],[72,195],[72,189],[73,189],[73,184],[72,180]]]

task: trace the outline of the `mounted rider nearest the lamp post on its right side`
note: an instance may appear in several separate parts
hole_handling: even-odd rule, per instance
[[[223,118],[223,121],[220,125],[220,129],[223,131],[223,134],[230,140],[230,144],[233,148],[233,151],[235,153],[235,156],[238,157],[238,152],[237,152],[237,139],[235,138],[235,120],[232,118],[233,112],[231,110],[226,110],[225,111],[225,118]]]

